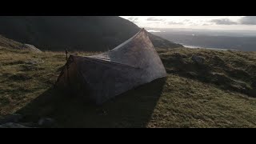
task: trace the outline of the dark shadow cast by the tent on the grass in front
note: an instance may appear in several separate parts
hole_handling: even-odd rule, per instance
[[[102,106],[49,89],[17,113],[23,114],[28,122],[54,118],[56,127],[146,127],[165,82],[166,78],[159,78]]]

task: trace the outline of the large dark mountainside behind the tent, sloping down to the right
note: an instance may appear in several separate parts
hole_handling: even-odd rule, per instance
[[[1,16],[0,34],[40,50],[105,51],[136,34],[140,28],[117,16]],[[150,34],[154,46],[182,45]]]

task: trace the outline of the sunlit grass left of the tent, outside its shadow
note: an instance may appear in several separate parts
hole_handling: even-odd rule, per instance
[[[61,52],[38,54],[3,47],[0,47],[0,52],[1,115],[19,110],[52,87],[60,73],[59,68],[66,62],[66,55]],[[38,64],[30,65],[30,61]]]

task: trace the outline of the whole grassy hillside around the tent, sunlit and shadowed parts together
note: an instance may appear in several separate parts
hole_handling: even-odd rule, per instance
[[[195,49],[158,53],[168,72],[166,79],[92,106],[51,89],[65,63],[64,53],[0,47],[0,115],[18,112],[29,120],[49,116],[58,127],[256,127],[251,86],[256,53]],[[205,57],[206,65],[194,64],[192,54]],[[26,63],[30,59],[38,65]]]

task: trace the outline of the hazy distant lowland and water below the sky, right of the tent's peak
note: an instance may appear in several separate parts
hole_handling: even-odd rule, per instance
[[[151,30],[152,31],[152,30]],[[206,48],[211,50],[256,51],[256,37],[244,34],[226,34],[214,31],[157,31],[152,32],[170,42],[182,44],[189,48]]]

